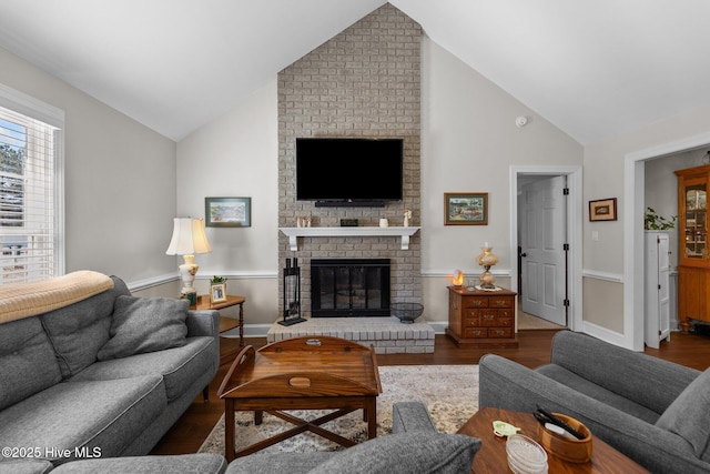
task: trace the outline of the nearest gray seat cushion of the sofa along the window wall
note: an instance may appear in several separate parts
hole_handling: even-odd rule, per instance
[[[54,464],[81,457],[75,448],[97,455],[99,447],[101,457],[118,456],[165,406],[160,375],[61,382],[1,411],[0,440],[48,450],[43,457]]]

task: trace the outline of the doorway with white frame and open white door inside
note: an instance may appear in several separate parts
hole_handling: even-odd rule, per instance
[[[520,297],[519,312],[577,331],[582,303],[581,172],[581,167],[510,168],[510,254],[518,255],[511,259],[510,280]]]

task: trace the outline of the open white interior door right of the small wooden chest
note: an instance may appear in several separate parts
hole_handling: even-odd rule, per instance
[[[562,326],[567,325],[566,181],[554,177],[526,184],[520,199],[520,309]]]

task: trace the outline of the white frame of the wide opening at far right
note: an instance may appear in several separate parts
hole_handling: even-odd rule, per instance
[[[643,211],[646,161],[710,145],[710,132],[633,151],[623,161],[623,336],[617,343],[643,351]]]

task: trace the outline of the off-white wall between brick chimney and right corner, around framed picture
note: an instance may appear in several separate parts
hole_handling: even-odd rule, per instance
[[[582,147],[429,39],[422,91],[424,305],[428,319],[445,321],[447,275],[477,278],[484,242],[500,258],[497,283],[510,284],[510,167],[581,165]],[[518,115],[526,127],[516,127]],[[488,225],[444,225],[445,192],[487,192]]]

